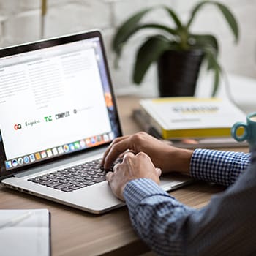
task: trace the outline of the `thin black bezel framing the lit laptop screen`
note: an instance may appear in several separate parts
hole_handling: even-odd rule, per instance
[[[104,47],[104,42],[103,42],[103,38],[102,38],[102,33],[99,30],[83,31],[80,33],[69,34],[69,35],[65,35],[65,36],[61,36],[61,37],[43,39],[43,40],[39,40],[37,42],[29,42],[29,43],[26,43],[23,45],[15,45],[15,46],[8,47],[8,48],[1,48],[0,49],[0,58],[16,55],[16,54],[20,54],[20,53],[27,53],[29,51],[39,50],[39,49],[43,49],[43,48],[50,48],[50,47],[57,46],[57,45],[64,45],[64,44],[67,44],[70,42],[78,42],[78,41],[84,40],[84,39],[92,39],[95,37],[99,38],[99,43],[100,43],[101,50],[102,50],[102,57],[103,57],[103,61],[105,64],[105,72],[106,72],[106,76],[108,79],[109,90],[110,90],[110,94],[112,96],[113,107],[114,107],[113,113],[115,115],[115,120],[116,120],[116,131],[117,131],[116,137],[119,137],[119,136],[122,136],[121,123],[120,123],[120,118],[118,116],[116,97],[115,97],[115,94],[113,91],[113,83],[110,78],[110,70],[108,67],[108,61],[107,61],[107,57],[106,57],[106,53],[105,53],[105,47]],[[63,155],[59,155],[54,158],[44,159],[40,162],[34,162],[29,165],[16,167],[15,169],[12,169],[12,170],[6,170],[4,173],[2,173],[0,171],[0,180],[2,180],[3,178],[7,178],[9,176],[12,176],[15,173],[20,173],[23,170],[30,170],[31,168],[39,167],[42,165],[47,165],[50,162],[54,162],[56,160],[66,159],[67,157],[70,157],[70,156],[75,156],[77,154],[84,154],[85,152],[96,150],[97,148],[106,147],[111,142],[112,142],[112,140],[110,140],[106,143],[102,143],[98,146],[93,146],[91,148],[84,148],[79,151],[70,152],[69,154],[63,154]]]

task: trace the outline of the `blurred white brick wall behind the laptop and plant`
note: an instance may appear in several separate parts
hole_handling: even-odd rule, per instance
[[[220,42],[220,61],[227,72],[256,78],[256,0],[219,0],[235,13],[241,29],[238,45],[227,29],[216,7],[204,7],[193,23],[196,32],[215,34]],[[120,61],[120,68],[113,68],[110,42],[117,26],[132,13],[145,7],[167,4],[182,19],[188,18],[189,10],[197,0],[48,0],[45,17],[45,37],[55,37],[86,29],[99,28],[105,37],[110,72],[117,93],[136,92],[140,95],[157,94],[155,66],[152,66],[141,86],[132,85],[132,65],[135,52],[145,32],[131,39]],[[40,37],[41,0],[0,0],[0,46],[29,42]],[[146,20],[167,23],[161,12],[152,12]]]

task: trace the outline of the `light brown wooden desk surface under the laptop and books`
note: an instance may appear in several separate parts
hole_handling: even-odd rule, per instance
[[[130,118],[131,109],[137,104],[136,98],[118,98],[124,134],[140,130]],[[246,148],[238,150],[246,151]],[[198,182],[173,191],[171,195],[189,206],[200,208],[208,203],[213,193],[222,190],[222,187]],[[0,208],[48,208],[51,212],[53,256],[125,256],[148,251],[148,247],[132,230],[126,207],[98,216],[0,187]]]

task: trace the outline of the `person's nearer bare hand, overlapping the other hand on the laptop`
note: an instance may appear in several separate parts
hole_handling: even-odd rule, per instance
[[[147,154],[140,152],[135,155],[128,151],[124,154],[123,162],[115,165],[113,172],[108,172],[106,178],[113,194],[124,200],[124,188],[128,181],[136,178],[151,178],[159,184],[160,175],[161,170],[154,167]]]

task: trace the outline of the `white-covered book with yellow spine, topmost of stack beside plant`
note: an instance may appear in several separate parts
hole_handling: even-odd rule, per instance
[[[141,99],[140,113],[164,139],[230,137],[232,125],[246,117],[229,99],[212,97]]]

